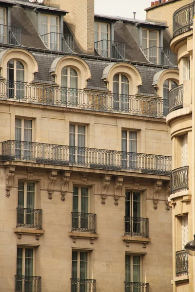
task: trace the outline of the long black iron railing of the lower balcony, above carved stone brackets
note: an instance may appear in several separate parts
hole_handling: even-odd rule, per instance
[[[123,152],[8,140],[1,142],[2,160],[32,161],[56,165],[80,165],[107,170],[171,174],[171,156]]]

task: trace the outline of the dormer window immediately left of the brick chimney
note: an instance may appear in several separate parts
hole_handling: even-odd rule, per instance
[[[59,17],[54,15],[41,14],[40,36],[50,50],[59,49]]]

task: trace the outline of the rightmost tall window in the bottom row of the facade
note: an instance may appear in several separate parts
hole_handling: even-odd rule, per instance
[[[125,282],[141,282],[141,256],[125,255]],[[140,289],[130,285],[125,287],[125,292],[140,292]]]

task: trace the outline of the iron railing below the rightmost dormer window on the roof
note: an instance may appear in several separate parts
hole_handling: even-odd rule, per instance
[[[169,49],[161,47],[150,47],[143,49],[147,59],[155,64],[177,66],[177,56]]]

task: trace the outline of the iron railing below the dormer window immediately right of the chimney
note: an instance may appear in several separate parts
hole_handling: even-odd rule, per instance
[[[125,58],[125,43],[102,39],[94,43],[94,48],[102,57],[115,59]]]

